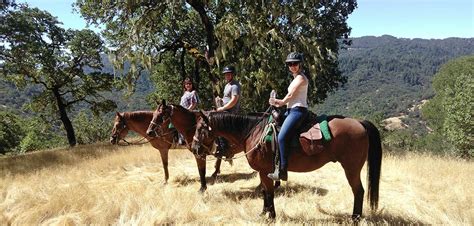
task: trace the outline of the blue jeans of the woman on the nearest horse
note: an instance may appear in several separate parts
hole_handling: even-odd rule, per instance
[[[305,107],[294,107],[286,110],[285,121],[278,134],[278,146],[280,148],[280,168],[288,168],[288,157],[290,155],[289,145],[291,139],[299,131],[301,123],[306,118],[308,109]]]

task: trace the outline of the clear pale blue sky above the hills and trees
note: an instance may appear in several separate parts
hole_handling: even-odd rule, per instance
[[[74,0],[17,0],[50,12],[66,28],[86,26]],[[384,34],[399,38],[474,37],[473,0],[359,0],[349,15],[351,37]]]

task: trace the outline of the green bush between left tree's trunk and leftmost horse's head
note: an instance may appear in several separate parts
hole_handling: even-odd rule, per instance
[[[81,111],[76,115],[73,124],[76,128],[77,142],[79,144],[106,141],[112,130],[110,122],[99,116],[90,115],[86,111]]]

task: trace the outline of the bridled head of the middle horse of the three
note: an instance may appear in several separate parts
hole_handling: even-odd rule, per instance
[[[146,135],[150,137],[161,136],[164,133],[163,125],[168,125],[171,121],[172,110],[173,106],[167,105],[165,100],[162,100],[161,104],[157,102],[157,107],[153,112],[153,118],[146,130]]]

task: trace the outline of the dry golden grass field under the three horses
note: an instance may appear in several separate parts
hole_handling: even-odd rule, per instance
[[[386,155],[382,167],[379,209],[371,212],[365,202],[362,224],[474,224],[472,162]],[[165,185],[159,153],[149,145],[98,144],[0,158],[0,224],[268,223],[258,216],[259,179],[245,158],[223,163],[204,194],[197,192],[188,151],[170,150],[169,169]],[[275,224],[350,223],[353,196],[339,164],[289,178],[275,195]]]

